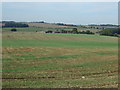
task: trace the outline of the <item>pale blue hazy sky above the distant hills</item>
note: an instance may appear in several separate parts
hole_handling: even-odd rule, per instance
[[[117,2],[3,2],[2,20],[117,24]]]

